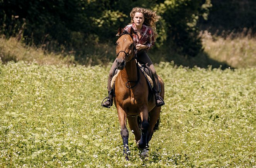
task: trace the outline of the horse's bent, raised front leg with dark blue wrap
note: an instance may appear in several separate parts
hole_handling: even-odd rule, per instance
[[[147,130],[149,128],[149,123],[147,122],[148,111],[147,107],[144,106],[141,108],[141,139],[137,142],[139,149],[144,149],[147,146]]]

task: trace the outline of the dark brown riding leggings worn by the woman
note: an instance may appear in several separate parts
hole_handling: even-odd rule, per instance
[[[111,80],[113,78],[113,71],[116,67],[116,65],[115,65],[116,60],[117,60],[117,58],[115,59],[114,63],[112,64],[112,67],[111,67],[110,72],[109,72],[108,91],[111,90]],[[147,55],[147,53],[144,49],[137,52],[137,61],[141,64],[146,64],[147,63],[147,66],[149,66],[149,68],[152,70],[152,72],[154,74],[154,77],[155,77],[155,81],[153,80],[154,88],[155,88],[156,91],[159,91],[159,86],[156,85],[156,83],[159,83],[158,82],[158,76],[156,75],[156,70],[154,68],[154,65],[153,65],[152,61],[150,60],[150,58],[148,57],[148,55]]]

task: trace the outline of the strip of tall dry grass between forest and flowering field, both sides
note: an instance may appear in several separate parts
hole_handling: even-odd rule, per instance
[[[256,38],[249,31],[228,33],[225,36],[200,33],[204,52],[196,57],[179,55],[170,47],[154,48],[148,55],[154,63],[174,61],[185,67],[248,68],[256,67]],[[79,53],[49,53],[44,47],[26,46],[16,38],[0,37],[0,58],[2,62],[23,60],[39,64],[83,64],[107,65],[115,59],[115,45],[112,43],[85,44],[86,55]],[[76,54],[76,56],[75,56]]]

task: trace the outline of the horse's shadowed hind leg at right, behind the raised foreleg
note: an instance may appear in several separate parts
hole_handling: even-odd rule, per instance
[[[149,121],[149,128],[147,131],[147,143],[151,140],[154,132],[154,126],[160,116],[161,107],[155,106],[151,111],[149,111],[150,121]]]

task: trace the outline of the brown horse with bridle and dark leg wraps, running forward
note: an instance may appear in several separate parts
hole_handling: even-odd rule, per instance
[[[117,34],[119,39],[116,42],[116,66],[121,71],[115,80],[114,103],[121,126],[124,155],[127,160],[129,160],[129,132],[126,119],[128,119],[129,127],[135,135],[137,147],[145,149],[153,136],[154,126],[159,119],[161,110],[161,107],[156,106],[154,94],[149,91],[146,78],[137,65],[133,33],[133,29],[131,32],[119,29]],[[161,85],[159,94],[164,98],[164,83],[160,77],[158,80]],[[140,128],[137,123],[138,116],[141,117],[142,121]],[[150,120],[148,121],[149,116]]]

